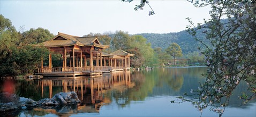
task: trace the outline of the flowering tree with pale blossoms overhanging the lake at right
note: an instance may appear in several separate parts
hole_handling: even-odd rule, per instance
[[[256,3],[253,0],[194,2],[196,7],[205,5],[212,7],[209,21],[195,25],[187,18],[191,23],[187,31],[205,45],[206,49],[199,49],[206,56],[206,80],[198,89],[191,90],[196,98],[180,98],[192,102],[200,111],[211,106],[212,111],[222,116],[240,82],[245,81],[251,93],[242,93],[239,98],[245,104],[256,98]],[[196,36],[200,29],[204,29],[210,46]]]

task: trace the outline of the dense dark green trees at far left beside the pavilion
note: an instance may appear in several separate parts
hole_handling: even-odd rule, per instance
[[[46,56],[48,50],[28,44],[39,43],[53,35],[42,28],[20,33],[3,15],[0,15],[0,20],[0,76],[33,74],[41,62],[41,57]]]

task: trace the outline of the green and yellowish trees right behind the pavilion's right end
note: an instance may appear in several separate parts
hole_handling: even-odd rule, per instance
[[[155,56],[154,50],[151,47],[152,45],[147,43],[147,39],[143,36],[130,36],[128,32],[121,30],[116,31],[114,35],[93,34],[91,32],[85,36],[98,36],[101,43],[106,45],[110,44],[110,48],[104,50],[104,52],[111,53],[121,48],[126,52],[130,51],[132,54],[135,53],[135,56],[131,57],[131,65],[135,68],[141,68],[142,66],[153,66],[157,62],[157,57]]]

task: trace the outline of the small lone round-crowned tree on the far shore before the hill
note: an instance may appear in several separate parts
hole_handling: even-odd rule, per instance
[[[174,57],[174,64],[176,65],[176,57],[183,56],[182,49],[179,47],[177,43],[172,43],[166,50],[167,54]]]

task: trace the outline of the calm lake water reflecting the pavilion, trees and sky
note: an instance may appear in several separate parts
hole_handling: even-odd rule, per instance
[[[191,103],[178,96],[197,89],[206,67],[155,68],[141,71],[121,71],[101,77],[43,78],[40,80],[0,80],[0,90],[39,101],[59,92],[76,91],[79,105],[59,106],[20,111],[17,116],[200,116]],[[242,105],[238,96],[246,92],[241,82],[232,93],[223,116],[256,116],[256,99]],[[190,98],[190,97],[187,97]],[[12,114],[13,115],[13,114]],[[206,108],[202,116],[219,116]]]

